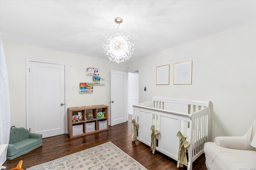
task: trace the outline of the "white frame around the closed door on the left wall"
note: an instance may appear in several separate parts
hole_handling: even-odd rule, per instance
[[[56,63],[56,62],[48,62],[48,61],[41,61],[41,60],[35,60],[35,59],[28,59],[26,58],[26,129],[30,130],[30,86],[29,86],[29,68],[30,68],[30,61],[31,62],[38,62],[38,63],[48,63],[48,64],[60,64],[64,65],[64,109],[65,109],[65,134],[68,133],[68,111],[67,111],[67,67],[64,63]]]

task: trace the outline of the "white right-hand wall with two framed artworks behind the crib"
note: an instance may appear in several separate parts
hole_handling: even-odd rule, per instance
[[[174,85],[174,63],[193,61],[192,85]],[[170,85],[156,86],[156,66],[170,64]],[[140,68],[140,102],[152,96],[206,99],[210,141],[244,135],[256,118],[256,21],[127,63]]]

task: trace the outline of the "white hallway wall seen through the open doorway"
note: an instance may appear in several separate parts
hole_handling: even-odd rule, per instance
[[[132,105],[139,102],[139,73],[128,72],[128,113],[132,115]]]

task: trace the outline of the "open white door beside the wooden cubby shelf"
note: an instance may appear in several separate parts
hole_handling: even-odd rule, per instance
[[[127,121],[127,73],[110,72],[111,126]]]

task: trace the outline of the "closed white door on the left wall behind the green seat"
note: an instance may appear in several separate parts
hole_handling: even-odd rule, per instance
[[[30,61],[29,67],[30,131],[43,138],[64,134],[64,65]]]

